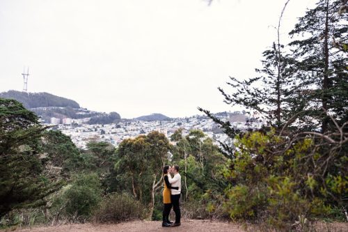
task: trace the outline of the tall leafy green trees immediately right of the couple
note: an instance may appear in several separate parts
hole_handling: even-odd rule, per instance
[[[182,173],[183,214],[190,218],[223,218],[222,193],[226,188],[222,168],[226,158],[206,134],[191,130],[186,137],[177,130],[172,140],[173,162]]]

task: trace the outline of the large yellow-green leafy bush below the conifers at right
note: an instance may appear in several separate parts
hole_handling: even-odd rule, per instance
[[[314,158],[320,153],[311,154],[314,141],[300,139],[288,147],[288,138],[274,132],[237,137],[235,159],[223,171],[230,183],[224,204],[230,217],[263,219],[278,229],[285,229],[285,222],[299,215],[329,217],[333,201],[348,193],[347,178],[337,169],[329,169],[323,183],[317,173],[320,157]],[[306,160],[311,155],[317,159],[314,166]],[[335,205],[343,207],[340,200]]]

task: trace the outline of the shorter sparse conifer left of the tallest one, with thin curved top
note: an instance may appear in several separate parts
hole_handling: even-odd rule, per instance
[[[294,107],[290,105],[294,98],[294,88],[291,84],[294,59],[283,52],[285,46],[280,43],[281,20],[288,2],[285,3],[276,27],[277,40],[263,52],[262,68],[255,70],[259,76],[242,81],[230,77],[227,84],[232,87],[232,93],[226,93],[219,88],[225,98],[224,102],[228,105],[239,105],[258,112],[268,125],[276,127],[281,127],[294,111]],[[215,121],[223,125],[218,118],[215,118]]]

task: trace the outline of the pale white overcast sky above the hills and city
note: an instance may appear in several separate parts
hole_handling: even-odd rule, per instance
[[[281,38],[315,0],[292,0]],[[217,87],[246,79],[276,40],[285,0],[0,0],[0,92],[47,92],[122,118],[233,111]]]

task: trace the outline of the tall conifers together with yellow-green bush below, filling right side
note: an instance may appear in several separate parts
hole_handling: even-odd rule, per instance
[[[235,141],[221,144],[228,158],[221,196],[232,219],[266,222],[278,231],[309,231],[308,220],[345,219],[347,8],[347,1],[317,1],[290,31],[287,45],[279,36],[280,16],[278,38],[263,52],[258,75],[230,77],[231,90],[219,88],[228,105],[265,121],[260,130],[234,130],[199,108]]]

